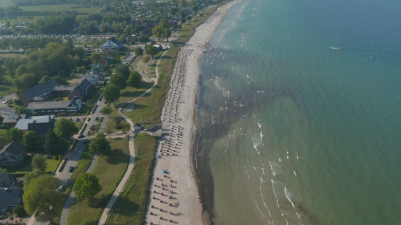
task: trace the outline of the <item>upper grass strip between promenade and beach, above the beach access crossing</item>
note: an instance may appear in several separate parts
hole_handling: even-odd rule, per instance
[[[164,105],[167,91],[170,86],[170,74],[176,61],[178,47],[171,47],[163,56],[159,66],[159,80],[156,87],[138,100],[135,108],[126,112],[132,121],[155,122],[160,121],[161,107]]]

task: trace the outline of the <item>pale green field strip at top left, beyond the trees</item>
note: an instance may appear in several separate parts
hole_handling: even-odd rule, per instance
[[[80,8],[75,4],[47,4],[47,5],[31,5],[31,6],[20,6],[20,8],[24,11],[79,11],[79,12],[87,12],[89,14],[99,13],[102,8],[100,7],[88,7],[88,8]]]

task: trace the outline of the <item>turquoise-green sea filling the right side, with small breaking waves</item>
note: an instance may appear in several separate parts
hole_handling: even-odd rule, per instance
[[[401,224],[399,8],[233,7],[200,60],[196,173],[215,224]]]

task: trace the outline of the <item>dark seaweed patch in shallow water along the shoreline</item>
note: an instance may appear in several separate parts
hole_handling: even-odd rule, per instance
[[[192,160],[195,165],[195,175],[199,180],[199,192],[203,206],[208,210],[211,218],[214,216],[214,179],[210,170],[209,155],[216,139],[226,135],[231,127],[230,124],[241,119],[241,115],[260,110],[260,107],[266,107],[278,97],[293,98],[298,91],[302,91],[300,85],[296,85],[295,82],[272,83],[268,86],[249,83],[240,90],[233,87],[230,90],[230,97],[223,96],[216,87],[208,86],[206,83],[213,80],[215,74],[219,74],[219,77],[223,79],[235,74],[222,66],[224,62],[220,56],[220,49],[215,49],[214,53],[205,55],[200,60],[202,74],[199,77],[200,86],[196,107],[196,136],[192,146],[194,149]],[[239,56],[238,52],[227,50],[224,53],[225,61],[229,58],[229,61],[240,62],[242,57],[253,57],[252,55]],[[213,63],[207,63],[210,61]],[[255,58],[250,61],[258,60]],[[263,89],[264,92],[258,93],[257,90],[260,89]],[[221,107],[227,107],[227,110],[220,110]],[[212,122],[212,116],[214,116],[215,122]]]

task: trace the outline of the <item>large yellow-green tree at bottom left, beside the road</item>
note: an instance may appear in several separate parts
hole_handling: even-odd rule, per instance
[[[28,214],[32,215],[36,211],[38,220],[47,221],[51,220],[55,213],[61,212],[64,202],[60,200],[61,193],[56,190],[60,183],[57,177],[43,174],[32,179],[28,186],[24,186],[23,201]]]

